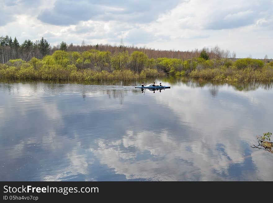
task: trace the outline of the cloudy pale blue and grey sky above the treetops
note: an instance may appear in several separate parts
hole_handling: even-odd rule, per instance
[[[273,0],[1,0],[0,36],[273,58]]]

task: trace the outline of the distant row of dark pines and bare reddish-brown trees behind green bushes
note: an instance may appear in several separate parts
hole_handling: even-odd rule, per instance
[[[143,52],[149,59],[154,58],[176,58],[181,60],[187,60],[192,58],[197,58],[200,56],[203,50],[206,51],[209,59],[221,60],[230,58],[233,62],[236,60],[236,53],[230,52],[228,50],[222,50],[219,46],[215,46],[211,49],[204,48],[203,50],[191,50],[191,51],[175,51],[175,50],[155,50],[146,47],[137,46],[124,46],[121,45],[87,45],[83,41],[80,45],[74,45],[73,43],[67,44],[66,42],[61,42],[60,45],[50,46],[45,38],[41,40],[36,40],[35,42],[30,39],[26,39],[22,44],[20,44],[15,37],[12,39],[8,35],[5,37],[0,37],[0,63],[6,63],[11,59],[22,59],[29,61],[32,57],[37,59],[42,59],[45,55],[52,55],[55,51],[77,51],[84,52],[89,50],[98,51],[109,51],[112,55],[127,51],[128,54],[132,54],[134,51]]]

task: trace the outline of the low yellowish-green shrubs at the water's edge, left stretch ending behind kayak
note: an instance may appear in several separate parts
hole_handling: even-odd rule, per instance
[[[35,70],[33,67],[21,67],[6,66],[0,68],[1,79],[13,79],[13,80],[53,80],[53,81],[131,81],[139,80],[151,77],[163,77],[164,73],[159,73],[154,69],[145,69],[141,73],[137,74],[131,70],[115,70],[113,72],[108,71],[95,71],[91,69],[76,68],[65,69],[56,67],[40,68]]]

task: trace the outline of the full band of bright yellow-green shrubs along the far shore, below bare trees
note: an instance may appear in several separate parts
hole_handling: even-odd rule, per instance
[[[169,75],[217,82],[273,82],[273,62],[227,58],[209,60],[201,55],[189,60],[149,59],[141,51],[55,51],[43,59],[9,60],[0,64],[0,78],[62,81],[130,81]]]

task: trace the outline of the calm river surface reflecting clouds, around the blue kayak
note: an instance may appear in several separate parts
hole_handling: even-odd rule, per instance
[[[134,85],[0,82],[0,180],[273,181],[272,86]]]

